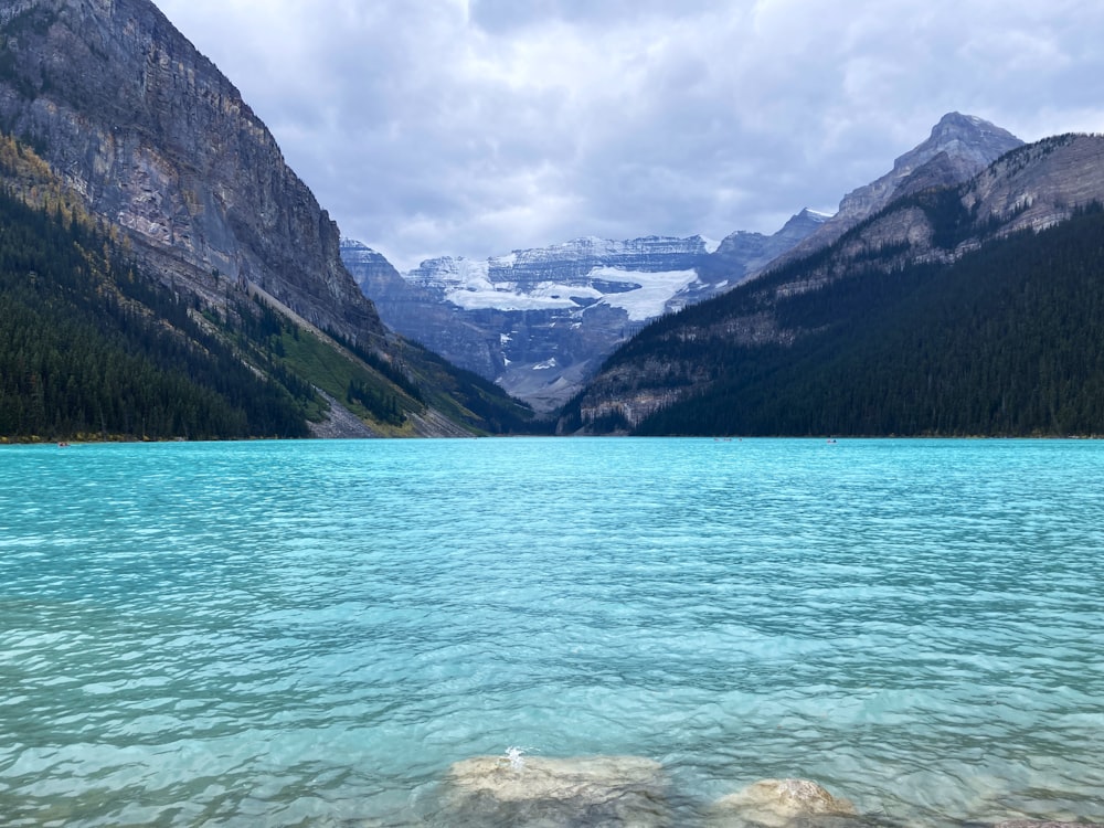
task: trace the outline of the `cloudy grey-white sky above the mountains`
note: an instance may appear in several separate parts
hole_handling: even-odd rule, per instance
[[[400,269],[776,231],[947,112],[1104,131],[1098,0],[155,0]]]

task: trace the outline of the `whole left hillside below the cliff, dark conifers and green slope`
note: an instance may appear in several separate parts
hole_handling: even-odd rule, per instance
[[[331,405],[316,386],[383,434],[428,405],[467,433],[532,417],[415,344],[404,362],[342,355],[262,302],[201,309],[124,247],[75,210],[0,191],[0,439],[306,437]]]

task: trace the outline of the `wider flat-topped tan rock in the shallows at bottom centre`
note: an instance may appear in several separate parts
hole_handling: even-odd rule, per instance
[[[662,767],[639,756],[477,756],[445,777],[449,825],[668,826]]]

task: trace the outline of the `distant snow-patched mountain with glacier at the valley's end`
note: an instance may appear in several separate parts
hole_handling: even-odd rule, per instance
[[[394,330],[550,411],[648,320],[731,288],[824,219],[803,211],[774,235],[733,233],[720,245],[578,238],[481,262],[429,259],[405,275],[357,242],[341,255]]]

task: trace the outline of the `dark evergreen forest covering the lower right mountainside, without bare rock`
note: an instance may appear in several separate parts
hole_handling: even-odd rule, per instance
[[[949,203],[949,202],[948,202]],[[952,242],[969,216],[928,203]],[[861,266],[860,266],[861,267]],[[953,266],[870,268],[781,300],[790,347],[679,338],[678,317],[615,359],[654,349],[711,385],[639,434],[1104,434],[1104,212],[991,242]],[[756,301],[690,309],[698,325]],[[699,328],[699,330],[701,330]],[[671,384],[689,376],[671,378]]]

